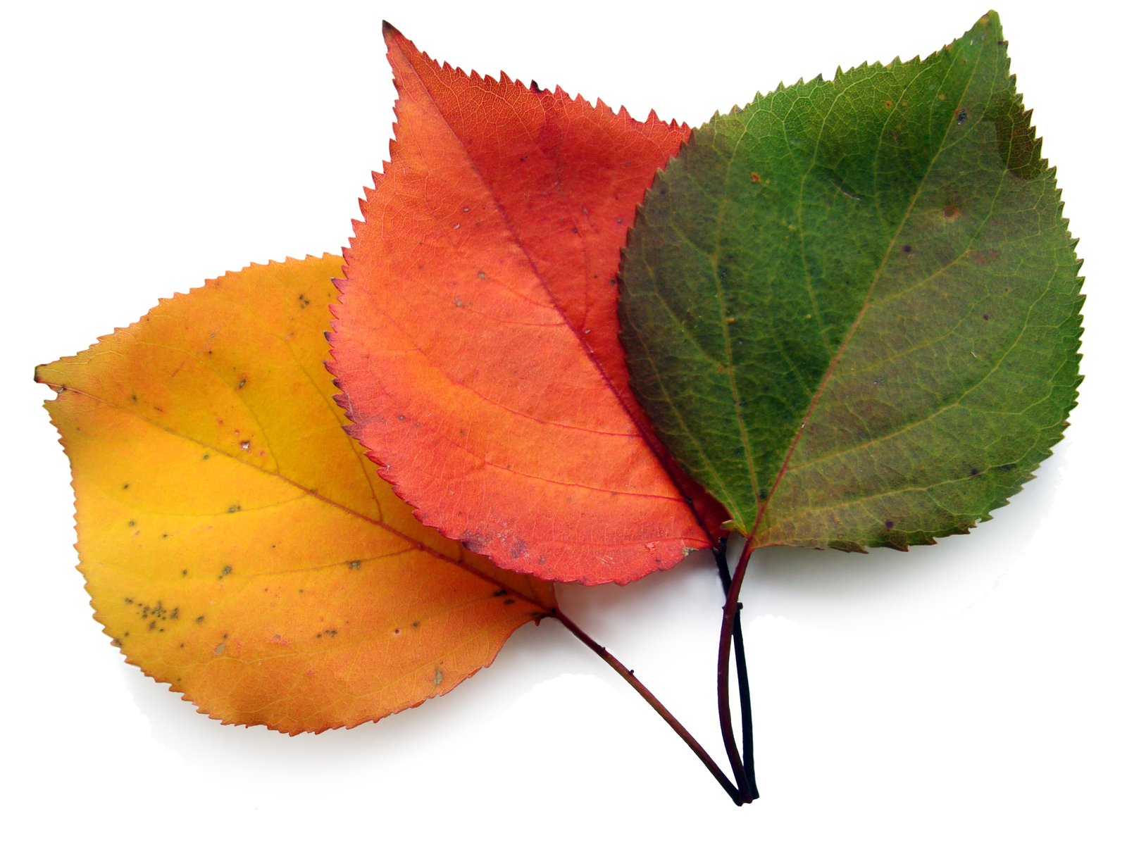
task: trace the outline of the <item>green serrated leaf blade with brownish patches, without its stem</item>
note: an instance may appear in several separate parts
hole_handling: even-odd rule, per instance
[[[1074,404],[1074,246],[990,14],[694,132],[624,259],[632,383],[756,545],[965,533]]]

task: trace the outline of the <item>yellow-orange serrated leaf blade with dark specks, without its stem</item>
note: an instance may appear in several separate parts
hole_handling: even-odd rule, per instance
[[[551,585],[419,525],[343,430],[332,256],[251,266],[38,367],[80,569],[128,662],[224,722],[320,731],[449,692]]]

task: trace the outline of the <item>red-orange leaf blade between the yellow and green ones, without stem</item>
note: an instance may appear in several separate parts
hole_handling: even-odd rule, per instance
[[[635,208],[686,127],[384,35],[397,140],[331,337],[353,433],[421,522],[508,569],[625,582],[708,545],[685,497],[724,516],[665,465],[615,312]]]

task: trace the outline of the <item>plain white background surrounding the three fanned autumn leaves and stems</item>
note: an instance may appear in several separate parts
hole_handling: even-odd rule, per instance
[[[929,53],[986,0],[23,3],[0,19],[9,842],[1122,842],[1120,11],[1001,0],[1085,259],[1086,380],[1039,478],[908,554],[755,555],[763,799],[736,809],[559,625],[352,731],[221,727],[90,619],[65,459],[32,382],[158,296],[336,251],[387,155],[388,18],[432,55],[691,124],[780,80]],[[1108,7],[1110,8],[1110,7]],[[689,561],[561,602],[717,758],[720,588]],[[5,829],[7,828],[7,829]]]

